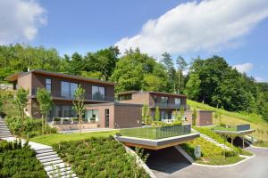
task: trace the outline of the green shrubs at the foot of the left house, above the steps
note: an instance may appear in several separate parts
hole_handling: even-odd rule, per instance
[[[14,135],[21,136],[24,138],[32,138],[42,134],[41,119],[33,119],[26,117],[23,121],[23,127],[24,127],[23,131],[21,131],[22,123],[20,117],[5,117],[4,120],[6,121],[11,133]],[[52,128],[49,125],[47,125],[45,133],[55,134],[57,133],[57,131],[55,128]]]

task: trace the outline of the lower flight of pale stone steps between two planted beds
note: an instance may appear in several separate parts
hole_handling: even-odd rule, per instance
[[[50,178],[77,178],[78,176],[71,171],[71,167],[63,163],[63,160],[58,157],[57,153],[51,147],[35,149],[37,152],[36,158],[45,167],[46,174]]]

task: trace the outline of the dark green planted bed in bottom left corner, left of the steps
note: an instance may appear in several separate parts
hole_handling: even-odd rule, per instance
[[[46,172],[28,145],[0,141],[0,177],[45,178]]]

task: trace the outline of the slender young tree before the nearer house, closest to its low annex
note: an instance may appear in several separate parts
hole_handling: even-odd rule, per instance
[[[78,113],[80,118],[80,134],[81,134],[81,128],[82,128],[82,116],[85,111],[85,90],[79,85],[79,87],[76,89],[74,93],[75,101],[72,102],[73,109]]]

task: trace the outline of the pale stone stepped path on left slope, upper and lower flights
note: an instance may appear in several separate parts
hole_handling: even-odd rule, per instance
[[[14,142],[15,137],[10,133],[8,127],[4,124],[3,119],[0,117],[0,139],[7,142]],[[22,144],[26,142],[21,139]],[[78,178],[76,174],[71,171],[71,166],[63,163],[63,160],[58,157],[57,153],[51,146],[40,144],[37,142],[29,142],[32,150],[36,151],[36,158],[41,162],[46,170],[46,174],[50,178]]]

